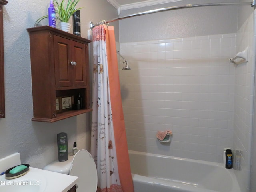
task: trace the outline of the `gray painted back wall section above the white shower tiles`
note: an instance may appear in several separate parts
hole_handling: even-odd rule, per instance
[[[137,8],[133,10],[122,10],[120,16],[126,16],[156,8],[212,2],[224,1],[185,0],[175,3]],[[232,1],[226,0],[225,2]],[[250,6],[247,7],[249,7],[251,11],[253,10]],[[238,6],[211,6],[172,10],[128,18],[120,20],[119,22],[120,42],[136,42],[234,33],[238,29],[237,13]]]

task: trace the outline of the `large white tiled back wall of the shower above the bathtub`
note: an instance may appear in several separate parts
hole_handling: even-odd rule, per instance
[[[222,162],[233,146],[236,34],[120,43],[120,53],[132,68],[120,70],[128,148]],[[172,130],[170,144],[158,130]]]

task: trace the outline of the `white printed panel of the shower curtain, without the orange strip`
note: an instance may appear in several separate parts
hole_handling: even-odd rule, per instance
[[[98,171],[97,192],[118,192],[121,189],[121,184],[114,142],[104,31],[104,27],[100,26],[93,29],[94,82],[92,88],[91,154]]]

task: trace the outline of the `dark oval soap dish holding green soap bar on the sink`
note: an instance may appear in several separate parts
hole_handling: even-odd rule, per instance
[[[29,171],[29,164],[21,164],[14,167],[11,167],[10,169],[6,170],[5,172],[5,178],[6,179],[15,179],[18,178],[24,174],[26,174]]]

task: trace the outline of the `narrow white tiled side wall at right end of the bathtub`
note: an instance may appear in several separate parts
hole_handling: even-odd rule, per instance
[[[235,174],[241,189],[250,188],[250,154],[252,142],[252,116],[254,97],[254,76],[255,76],[255,29],[253,25],[253,13],[244,22],[236,35],[236,52],[243,51],[246,47],[249,50],[249,60],[241,64],[235,70],[235,92],[234,92],[234,138],[233,148],[240,150],[241,170]],[[236,166],[236,162],[234,162]]]

